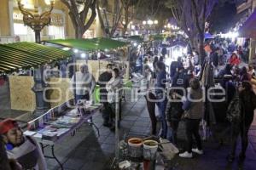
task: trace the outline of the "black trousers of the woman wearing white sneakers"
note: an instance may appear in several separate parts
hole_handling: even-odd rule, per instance
[[[202,150],[201,137],[199,134],[200,121],[201,121],[200,119],[187,119],[186,120],[186,135],[187,135],[187,139],[188,139],[187,151],[189,153],[192,152],[193,136],[195,137],[195,142],[196,142],[198,150]]]

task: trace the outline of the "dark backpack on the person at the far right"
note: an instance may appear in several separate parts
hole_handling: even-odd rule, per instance
[[[228,106],[227,120],[231,123],[240,123],[242,118],[241,110],[241,101],[239,99],[239,95],[236,93]]]

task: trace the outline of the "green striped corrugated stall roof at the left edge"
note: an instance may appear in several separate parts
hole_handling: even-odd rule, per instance
[[[72,53],[38,43],[15,42],[0,44],[0,73],[9,73],[54,60],[71,57]]]

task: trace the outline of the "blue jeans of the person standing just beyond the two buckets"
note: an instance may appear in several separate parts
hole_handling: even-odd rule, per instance
[[[166,104],[167,104],[167,99],[164,99],[164,101],[160,101],[156,104],[159,107],[159,111],[160,111],[160,119],[161,119],[160,137],[163,139],[166,139],[166,135],[167,135]]]

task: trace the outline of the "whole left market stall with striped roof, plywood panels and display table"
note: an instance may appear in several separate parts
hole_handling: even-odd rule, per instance
[[[9,76],[12,109],[34,111],[35,103],[38,101],[32,88],[38,79],[32,77],[33,69],[70,59],[72,53],[40,44],[19,42],[0,44],[0,56],[0,73],[13,74]],[[41,144],[43,152],[45,147],[50,146],[52,156],[44,156],[55,159],[63,169],[61,162],[55,156],[55,144],[70,133],[74,135],[84,122],[102,108],[102,104],[90,100],[74,105],[73,94],[68,89],[69,79],[48,76],[48,72],[44,72],[44,76],[40,79],[48,85],[43,93],[44,100],[49,102],[51,109],[40,116],[35,115],[37,118],[27,122],[25,135],[36,139]],[[95,126],[93,122],[90,124]]]

